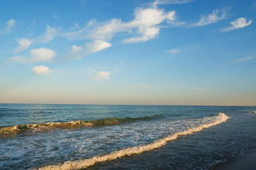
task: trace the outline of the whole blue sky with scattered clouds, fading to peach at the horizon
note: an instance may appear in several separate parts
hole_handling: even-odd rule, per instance
[[[256,0],[0,3],[0,103],[256,105]]]

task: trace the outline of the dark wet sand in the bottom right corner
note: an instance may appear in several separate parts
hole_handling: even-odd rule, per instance
[[[211,170],[256,170],[256,150],[235,156],[224,164],[218,164]]]

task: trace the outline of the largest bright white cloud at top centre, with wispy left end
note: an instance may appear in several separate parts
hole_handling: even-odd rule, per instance
[[[136,8],[134,19],[129,22],[122,22],[121,19],[112,19],[93,29],[89,35],[84,37],[99,40],[111,40],[117,33],[127,32],[138,36],[122,40],[124,43],[148,41],[157,36],[160,32],[160,24],[176,22],[176,12],[166,12],[158,8]]]

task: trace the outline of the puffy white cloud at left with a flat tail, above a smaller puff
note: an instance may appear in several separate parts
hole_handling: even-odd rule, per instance
[[[12,57],[11,60],[13,62],[39,62],[39,61],[50,61],[56,54],[53,50],[48,48],[37,48],[29,51],[29,57]]]

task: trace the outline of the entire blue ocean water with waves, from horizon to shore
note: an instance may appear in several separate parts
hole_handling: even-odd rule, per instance
[[[0,170],[208,170],[256,147],[256,107],[0,104]]]

